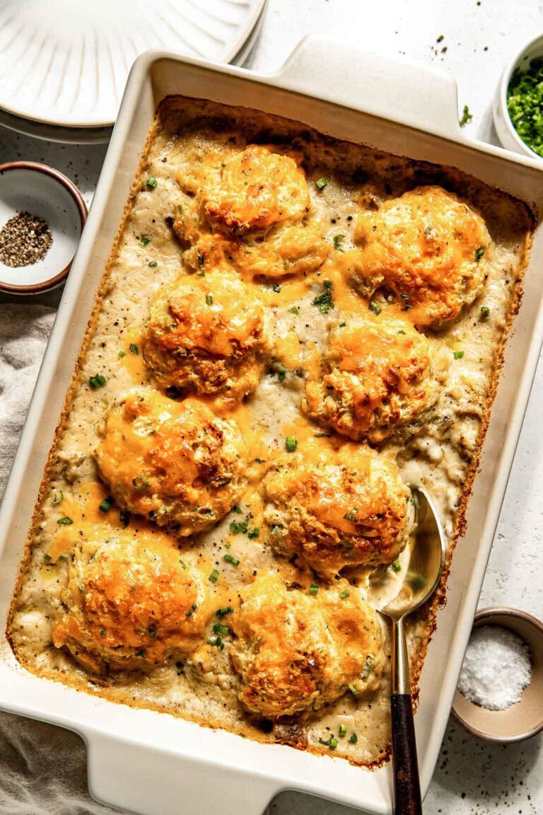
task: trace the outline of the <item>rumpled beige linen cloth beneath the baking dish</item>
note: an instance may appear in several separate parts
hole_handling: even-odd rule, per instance
[[[0,304],[0,496],[54,319],[46,306]],[[90,798],[79,736],[0,712],[0,815],[112,813]]]

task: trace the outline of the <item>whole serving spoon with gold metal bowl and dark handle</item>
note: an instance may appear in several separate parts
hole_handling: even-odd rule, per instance
[[[436,591],[446,554],[443,527],[435,504],[423,487],[411,487],[411,491],[417,526],[409,566],[400,592],[379,609],[392,621],[390,706],[395,815],[423,813],[404,621]]]

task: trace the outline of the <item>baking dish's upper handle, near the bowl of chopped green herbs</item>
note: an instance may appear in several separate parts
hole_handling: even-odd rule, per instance
[[[291,90],[392,119],[446,139],[465,140],[458,89],[449,73],[402,58],[304,37],[275,75]]]

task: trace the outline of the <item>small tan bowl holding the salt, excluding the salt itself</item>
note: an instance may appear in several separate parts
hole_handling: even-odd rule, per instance
[[[477,612],[473,628],[498,625],[517,634],[528,645],[532,658],[532,681],[520,701],[505,710],[480,707],[456,690],[453,716],[466,730],[491,742],[521,742],[543,730],[543,623],[525,611],[505,607]]]

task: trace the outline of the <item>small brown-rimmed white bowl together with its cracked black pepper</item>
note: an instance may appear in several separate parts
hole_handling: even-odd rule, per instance
[[[63,283],[86,216],[81,192],[59,170],[0,165],[0,291],[37,294]]]

